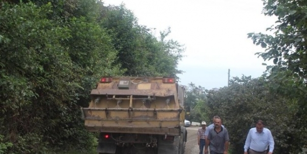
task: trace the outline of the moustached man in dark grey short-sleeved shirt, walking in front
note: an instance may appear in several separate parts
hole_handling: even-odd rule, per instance
[[[208,154],[208,146],[210,145],[210,154],[228,154],[228,131],[225,127],[222,127],[222,120],[220,118],[215,119],[214,128],[209,130],[205,154]]]

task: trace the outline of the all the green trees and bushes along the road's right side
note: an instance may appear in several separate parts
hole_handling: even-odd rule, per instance
[[[307,2],[263,0],[263,14],[277,16],[264,33],[249,33],[271,60],[259,78],[233,77],[228,87],[206,90],[191,83],[186,96],[191,120],[211,122],[219,115],[230,135],[232,154],[243,154],[248,130],[266,122],[275,139],[274,154],[307,154]],[[266,63],[263,63],[266,65]]]

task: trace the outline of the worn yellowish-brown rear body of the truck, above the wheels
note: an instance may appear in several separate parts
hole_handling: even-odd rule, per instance
[[[128,81],[124,89],[120,87],[122,81]],[[83,108],[86,129],[92,132],[179,135],[184,123],[184,110],[176,86],[175,83],[163,83],[161,77],[145,80],[112,78],[112,82],[98,83],[97,89],[91,92],[89,107]]]

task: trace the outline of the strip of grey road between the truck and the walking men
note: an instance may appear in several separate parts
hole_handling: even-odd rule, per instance
[[[197,130],[199,127],[189,126],[187,127],[188,131],[188,140],[186,143],[185,154],[199,154],[199,147],[197,145]]]

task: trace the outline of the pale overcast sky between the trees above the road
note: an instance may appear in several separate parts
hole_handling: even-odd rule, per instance
[[[156,33],[171,28],[168,38],[186,47],[178,68],[180,84],[194,83],[206,89],[227,86],[230,78],[242,74],[253,78],[265,71],[264,51],[247,38],[249,32],[265,32],[276,17],[261,14],[262,0],[103,0],[122,2],[134,12],[140,25],[156,28]],[[272,63],[272,62],[271,62]]]

